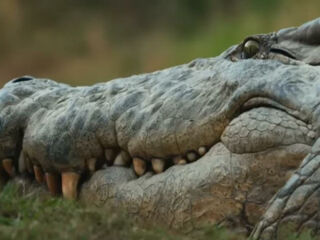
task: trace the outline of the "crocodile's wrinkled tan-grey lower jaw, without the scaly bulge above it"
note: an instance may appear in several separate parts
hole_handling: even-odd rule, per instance
[[[183,231],[221,222],[249,231],[310,149],[292,144],[236,154],[219,142],[198,161],[161,174],[137,178],[123,167],[97,171],[82,185],[79,197]]]

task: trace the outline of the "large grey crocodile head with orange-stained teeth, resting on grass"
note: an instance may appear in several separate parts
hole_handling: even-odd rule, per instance
[[[316,233],[319,95],[320,18],[92,86],[19,77],[0,89],[0,181],[186,232]]]

